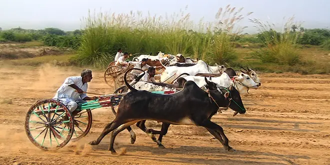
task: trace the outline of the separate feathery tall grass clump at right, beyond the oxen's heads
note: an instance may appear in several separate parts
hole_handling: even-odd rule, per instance
[[[257,50],[252,55],[262,62],[275,62],[281,64],[295,65],[300,61],[300,54],[296,48],[297,39],[301,36],[299,29],[301,23],[293,23],[290,17],[280,32],[276,31],[274,24],[264,23],[258,19],[249,19],[255,23],[259,32],[259,39],[262,40],[264,48]]]

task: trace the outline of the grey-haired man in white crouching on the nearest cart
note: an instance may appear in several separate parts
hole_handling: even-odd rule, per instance
[[[79,111],[74,111],[78,104],[77,102],[86,102],[86,100],[97,99],[97,96],[88,97],[86,91],[88,88],[87,82],[92,79],[90,69],[83,69],[80,76],[69,76],[63,84],[57,89],[54,99],[59,99],[72,113],[74,116]],[[74,112],[73,112],[74,111]],[[67,119],[67,116],[65,116]],[[64,117],[64,119],[65,119]]]

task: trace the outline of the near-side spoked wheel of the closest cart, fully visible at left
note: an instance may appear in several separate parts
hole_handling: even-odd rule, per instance
[[[68,108],[55,99],[43,99],[27,111],[24,124],[26,135],[38,148],[59,149],[73,134],[73,118]]]

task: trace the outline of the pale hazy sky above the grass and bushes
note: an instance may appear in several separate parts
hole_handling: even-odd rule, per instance
[[[247,18],[259,18],[263,21],[282,24],[283,17],[295,15],[295,20],[304,21],[307,28],[330,27],[330,0],[0,0],[0,27],[40,29],[57,27],[63,30],[80,28],[80,18],[87,16],[88,9],[129,13],[140,10],[144,14],[164,15],[179,12],[188,5],[185,13],[198,22],[214,20],[219,7],[227,4],[236,8],[244,7],[241,13],[253,13],[241,26],[249,26],[245,32],[255,28]]]

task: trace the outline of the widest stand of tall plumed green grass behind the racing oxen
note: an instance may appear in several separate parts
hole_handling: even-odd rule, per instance
[[[118,47],[128,53],[155,54],[157,51],[203,59],[209,63],[230,63],[237,58],[230,38],[245,28],[236,27],[242,20],[240,8],[227,5],[219,8],[214,22],[198,24],[183,10],[165,16],[142,16],[141,11],[130,13],[93,13],[83,18],[77,60],[81,64],[103,67],[113,60]],[[247,13],[250,14],[252,12]]]

